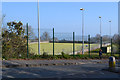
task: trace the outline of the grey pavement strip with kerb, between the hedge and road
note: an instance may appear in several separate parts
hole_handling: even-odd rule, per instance
[[[88,63],[108,63],[108,59],[103,60],[3,60],[2,68],[15,67],[40,67],[51,65],[78,65]]]

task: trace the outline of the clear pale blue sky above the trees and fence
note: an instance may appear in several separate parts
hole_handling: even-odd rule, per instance
[[[118,33],[117,2],[40,2],[40,27],[55,32],[82,35],[82,12],[84,8],[84,34],[95,36],[100,33],[102,17],[102,35],[109,35],[110,24],[112,35]],[[37,2],[3,2],[2,13],[6,15],[4,24],[11,21],[28,23],[37,34]]]

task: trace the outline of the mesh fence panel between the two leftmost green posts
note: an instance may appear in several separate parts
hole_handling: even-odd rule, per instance
[[[27,30],[26,30],[27,31]],[[38,55],[38,29],[28,28],[28,32],[32,32],[29,35],[29,49],[30,52],[33,54]],[[52,29],[40,29],[40,55],[44,52],[48,53],[49,55],[53,54],[53,30]]]

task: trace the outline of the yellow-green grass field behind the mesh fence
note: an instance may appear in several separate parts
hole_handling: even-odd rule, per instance
[[[85,49],[88,49],[85,44]],[[91,44],[92,47],[96,46],[97,44]],[[32,53],[38,54],[38,43],[30,43],[29,44],[30,51]],[[80,51],[82,49],[82,44],[75,44],[75,51]],[[61,54],[61,52],[65,52],[66,54],[73,52],[73,43],[55,43],[55,54]],[[48,54],[53,54],[53,44],[52,43],[40,43],[40,52],[47,52]]]

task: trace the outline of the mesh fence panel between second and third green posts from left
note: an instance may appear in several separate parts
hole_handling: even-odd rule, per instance
[[[65,54],[72,54],[73,38],[72,33],[57,33],[54,34],[54,51],[55,55],[61,55],[61,52]]]

